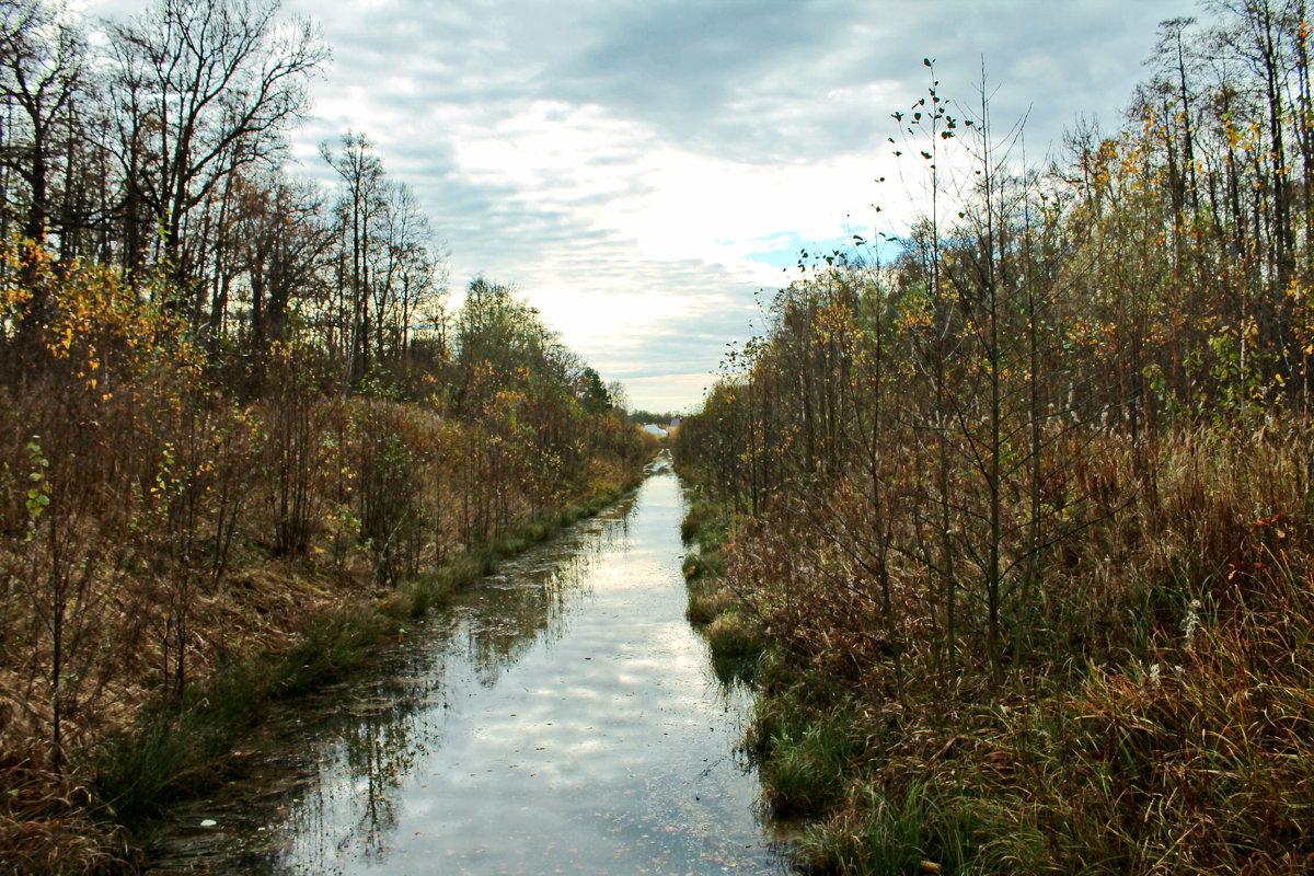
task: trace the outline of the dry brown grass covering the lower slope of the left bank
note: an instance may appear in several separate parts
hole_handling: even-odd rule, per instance
[[[448,469],[457,465],[455,456],[443,462]],[[635,468],[624,465],[623,460],[599,460],[590,466],[586,479],[577,485],[573,495],[562,496],[561,503],[573,500],[595,508],[602,498],[615,495],[616,483],[632,478]],[[18,474],[25,471],[20,469]],[[428,474],[432,475],[434,469]],[[116,541],[118,531],[105,528],[106,517],[99,510],[79,511],[83,516],[75,523],[80,529],[70,531],[89,535],[68,541],[81,552],[71,554],[71,558],[53,558],[47,542],[25,540],[22,531],[0,544],[0,788],[4,789],[0,793],[0,869],[80,873],[104,872],[124,864],[130,854],[129,842],[126,834],[114,827],[116,818],[127,817],[122,808],[131,809],[133,818],[148,814],[154,808],[154,802],[145,799],[154,793],[150,788],[167,788],[160,793],[171,795],[179,784],[175,771],[145,785],[130,780],[129,784],[147,789],[134,788],[127,796],[114,791],[112,799],[100,799],[93,791],[97,787],[104,789],[104,776],[97,775],[101,768],[113,772],[105,763],[106,743],[138,725],[146,707],[176,703],[192,721],[188,704],[194,699],[193,690],[208,691],[215,675],[243,665],[254,654],[273,658],[304,655],[307,641],[319,641],[317,636],[322,630],[317,632],[317,619],[334,612],[369,617],[374,612],[423,611],[435,596],[431,588],[411,586],[405,578],[407,563],[432,567],[439,561],[448,561],[455,563],[453,569],[460,566],[465,570],[459,570],[457,578],[469,579],[481,574],[490,562],[491,553],[484,557],[478,552],[523,548],[533,537],[541,538],[555,525],[572,519],[565,514],[537,519],[527,496],[501,490],[499,494],[511,496],[505,508],[506,520],[490,527],[487,541],[469,545],[478,554],[474,562],[466,562],[463,553],[473,536],[463,532],[460,519],[448,512],[444,527],[428,521],[423,531],[427,541],[417,542],[419,548],[410,556],[398,554],[401,558],[393,562],[386,575],[381,575],[377,545],[363,541],[350,519],[340,531],[335,529],[334,519],[317,519],[305,556],[279,556],[271,544],[260,538],[261,533],[272,532],[273,525],[268,504],[259,500],[259,490],[265,486],[259,475],[258,468],[248,473],[255,481],[251,489],[258,493],[243,514],[242,532],[234,540],[226,567],[217,578],[197,578],[194,590],[188,595],[185,696],[177,695],[171,680],[177,649],[173,646],[176,640],[170,636],[177,629],[172,625],[177,613],[172,608],[176,603],[170,600],[177,596],[177,591],[171,590],[170,561],[155,553],[163,542],[163,537],[158,536],[168,532],[162,521],[145,514],[139,519],[125,515],[129,523]],[[442,471],[436,477],[449,481],[452,474]],[[490,489],[486,482],[472,486]],[[332,485],[325,482],[318,489],[326,494],[325,499],[317,500],[318,504],[332,508],[327,500]],[[459,494],[452,499],[449,483],[445,490],[442,496],[445,502],[459,500]],[[92,498],[93,493],[88,493],[87,500]],[[58,503],[51,507],[63,511]],[[423,512],[407,506],[399,514],[419,517]],[[526,527],[523,532],[512,532],[522,524]],[[64,524],[60,521],[60,525]],[[515,536],[514,544],[501,544],[499,538],[511,536]],[[213,556],[212,542],[201,540],[198,554],[201,562],[208,562]],[[79,557],[89,557],[91,561],[84,562]],[[47,578],[57,562],[75,570],[79,563],[95,567],[96,575],[76,580],[78,588],[67,591],[62,602],[46,591],[29,595],[24,584],[13,583]],[[92,566],[91,562],[99,565]],[[66,612],[67,633],[67,675],[62,678],[58,693],[49,668],[54,665],[50,612],[57,608]],[[368,623],[359,626],[360,636],[346,630],[323,638],[325,647],[361,647],[371,641],[372,628]],[[205,760],[215,756],[219,749],[218,754],[223,754],[231,749],[223,747],[223,739],[256,716],[261,697],[281,695],[284,688],[300,690],[313,684],[315,678],[311,676],[322,675],[321,668],[331,672],[350,655],[330,655],[325,661],[318,661],[318,655],[309,657],[314,658],[307,663],[313,663],[310,676],[301,678],[305,675],[301,672],[297,678],[289,676],[283,687],[275,684],[267,691],[261,688],[251,693],[246,697],[251,703],[235,704],[231,714],[218,718],[219,729],[213,733],[206,729],[205,738],[193,746],[194,751],[179,756]],[[62,697],[63,707],[58,751],[53,747],[51,734],[57,695]],[[127,751],[127,747],[116,747],[114,751]],[[148,764],[137,764],[133,758],[127,759],[133,760],[130,770],[150,768]],[[129,797],[130,804],[125,802]]]

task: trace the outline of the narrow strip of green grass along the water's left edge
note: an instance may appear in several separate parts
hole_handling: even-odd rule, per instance
[[[502,558],[597,514],[622,493],[608,490],[583,504],[537,516],[480,550],[403,582],[382,599],[322,612],[286,651],[231,663],[192,686],[181,701],[151,704],[129,732],[110,738],[92,756],[93,791],[105,814],[130,831],[146,830],[170,802],[223,779],[234,745],[269,703],[342,678],[365,662],[381,640],[495,571]]]

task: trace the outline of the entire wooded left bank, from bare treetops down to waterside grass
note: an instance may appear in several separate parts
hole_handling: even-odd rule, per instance
[[[460,306],[368,134],[289,169],[328,49],[248,0],[102,39],[0,0],[0,869],[114,872],[260,703],[652,454],[515,290]]]

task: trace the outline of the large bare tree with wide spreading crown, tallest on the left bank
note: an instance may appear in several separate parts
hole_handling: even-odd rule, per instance
[[[110,29],[127,218],[155,225],[175,280],[193,267],[184,248],[191,211],[230,173],[277,152],[283,129],[306,108],[306,79],[327,58],[311,25],[280,26],[277,8],[160,0]],[[143,255],[127,253],[129,267]]]

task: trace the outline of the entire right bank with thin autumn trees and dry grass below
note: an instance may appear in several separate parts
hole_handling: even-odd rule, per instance
[[[1043,167],[928,59],[930,209],[802,264],[679,429],[824,869],[1314,865],[1310,21],[1206,11]]]

